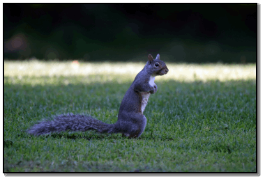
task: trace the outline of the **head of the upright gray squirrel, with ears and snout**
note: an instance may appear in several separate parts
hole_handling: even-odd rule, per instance
[[[167,74],[169,71],[165,62],[160,61],[160,55],[156,56],[156,59],[153,59],[151,54],[148,55],[148,62],[146,63],[148,69],[151,71],[153,76]]]

